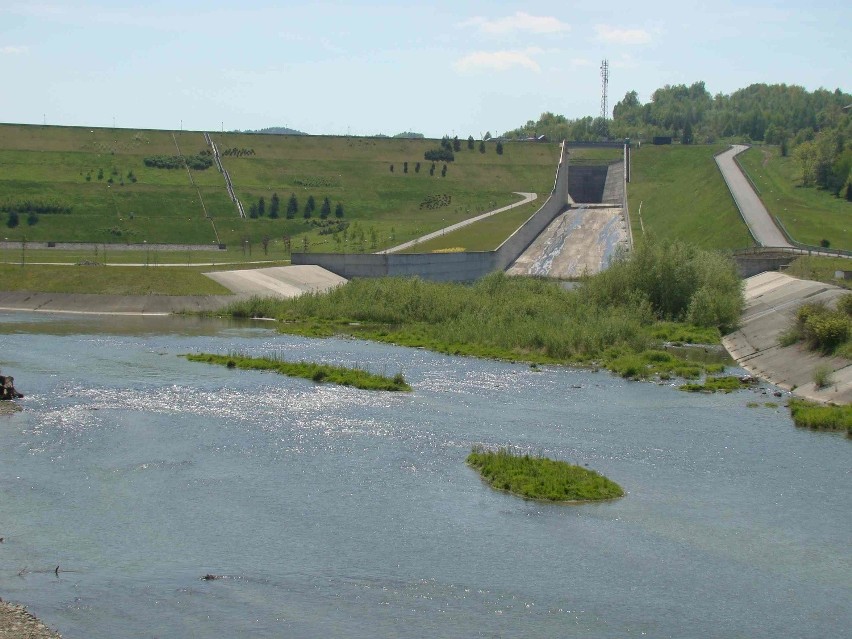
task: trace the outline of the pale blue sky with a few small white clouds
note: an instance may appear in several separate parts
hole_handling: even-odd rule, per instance
[[[704,81],[852,90],[852,2],[0,0],[0,122],[479,138]]]

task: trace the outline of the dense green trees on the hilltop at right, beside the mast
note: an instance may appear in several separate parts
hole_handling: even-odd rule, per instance
[[[786,84],[752,84],[730,95],[711,95],[704,82],[666,85],[642,103],[628,91],[612,119],[568,119],[543,113],[505,137],[546,135],[581,142],[650,140],[670,136],[682,144],[720,139],[779,145],[799,162],[805,186],[819,186],[852,199],[852,95],[840,89],[807,91]]]

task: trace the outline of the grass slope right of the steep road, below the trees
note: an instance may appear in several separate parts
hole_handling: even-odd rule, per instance
[[[802,186],[795,158],[781,157],[777,146],[752,147],[738,156],[770,213],[781,220],[797,242],[852,249],[852,202],[828,191]]]

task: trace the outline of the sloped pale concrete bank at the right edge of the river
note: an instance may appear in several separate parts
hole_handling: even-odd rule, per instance
[[[842,357],[822,357],[801,345],[782,347],[780,336],[794,322],[796,310],[805,302],[831,306],[848,293],[831,284],[799,280],[781,273],[762,273],[745,281],[746,308],[740,329],[726,335],[722,343],[737,363],[793,394],[820,402],[848,404],[852,401],[852,366]],[[817,366],[828,366],[833,383],[816,388]]]

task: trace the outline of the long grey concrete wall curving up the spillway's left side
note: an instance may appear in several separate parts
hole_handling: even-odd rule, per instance
[[[605,168],[605,167],[604,167]],[[573,169],[572,169],[573,170]],[[568,204],[568,162],[556,169],[547,201],[495,251],[464,253],[293,253],[293,264],[315,264],[347,279],[418,276],[436,281],[472,281],[511,265]],[[604,176],[605,178],[605,176]],[[602,188],[602,187],[601,187]]]

